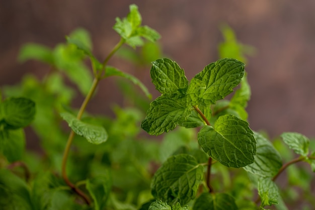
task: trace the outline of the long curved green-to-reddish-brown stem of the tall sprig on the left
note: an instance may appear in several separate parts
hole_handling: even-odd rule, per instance
[[[91,100],[100,80],[102,79],[102,74],[104,73],[105,75],[105,70],[106,70],[106,65],[109,61],[109,59],[114,55],[114,53],[125,43],[125,40],[124,39],[120,39],[120,41],[116,44],[116,46],[113,48],[113,50],[108,54],[108,56],[105,58],[105,60],[103,61],[103,69],[101,71],[99,71],[99,73],[95,76],[94,80],[93,80],[93,83],[92,83],[92,86],[90,88],[90,91],[89,93],[87,94],[86,98],[84,99],[82,105],[81,105],[81,108],[80,110],[78,111],[77,113],[77,116],[76,118],[78,120],[80,120],[82,118],[82,115],[84,113],[84,111],[86,110],[87,106],[88,106],[88,103],[89,101]],[[74,132],[71,130],[70,134],[69,134],[69,137],[68,137],[68,140],[67,140],[67,143],[66,143],[66,146],[65,146],[65,149],[64,149],[64,152],[63,152],[63,157],[62,157],[62,163],[61,163],[61,174],[62,174],[62,178],[63,180],[65,181],[65,183],[71,187],[71,189],[73,191],[75,191],[78,195],[80,195],[87,204],[90,204],[91,203],[91,200],[90,198],[83,192],[81,191],[80,189],[78,189],[67,177],[67,174],[66,174],[66,163],[67,163],[67,159],[68,159],[68,156],[69,156],[69,151],[70,151],[70,147],[71,147],[71,144],[72,144],[72,141],[73,141],[73,137],[74,137]]]

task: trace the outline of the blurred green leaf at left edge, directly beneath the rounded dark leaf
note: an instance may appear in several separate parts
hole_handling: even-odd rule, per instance
[[[25,150],[23,129],[0,131],[0,153],[9,162],[21,160]]]

